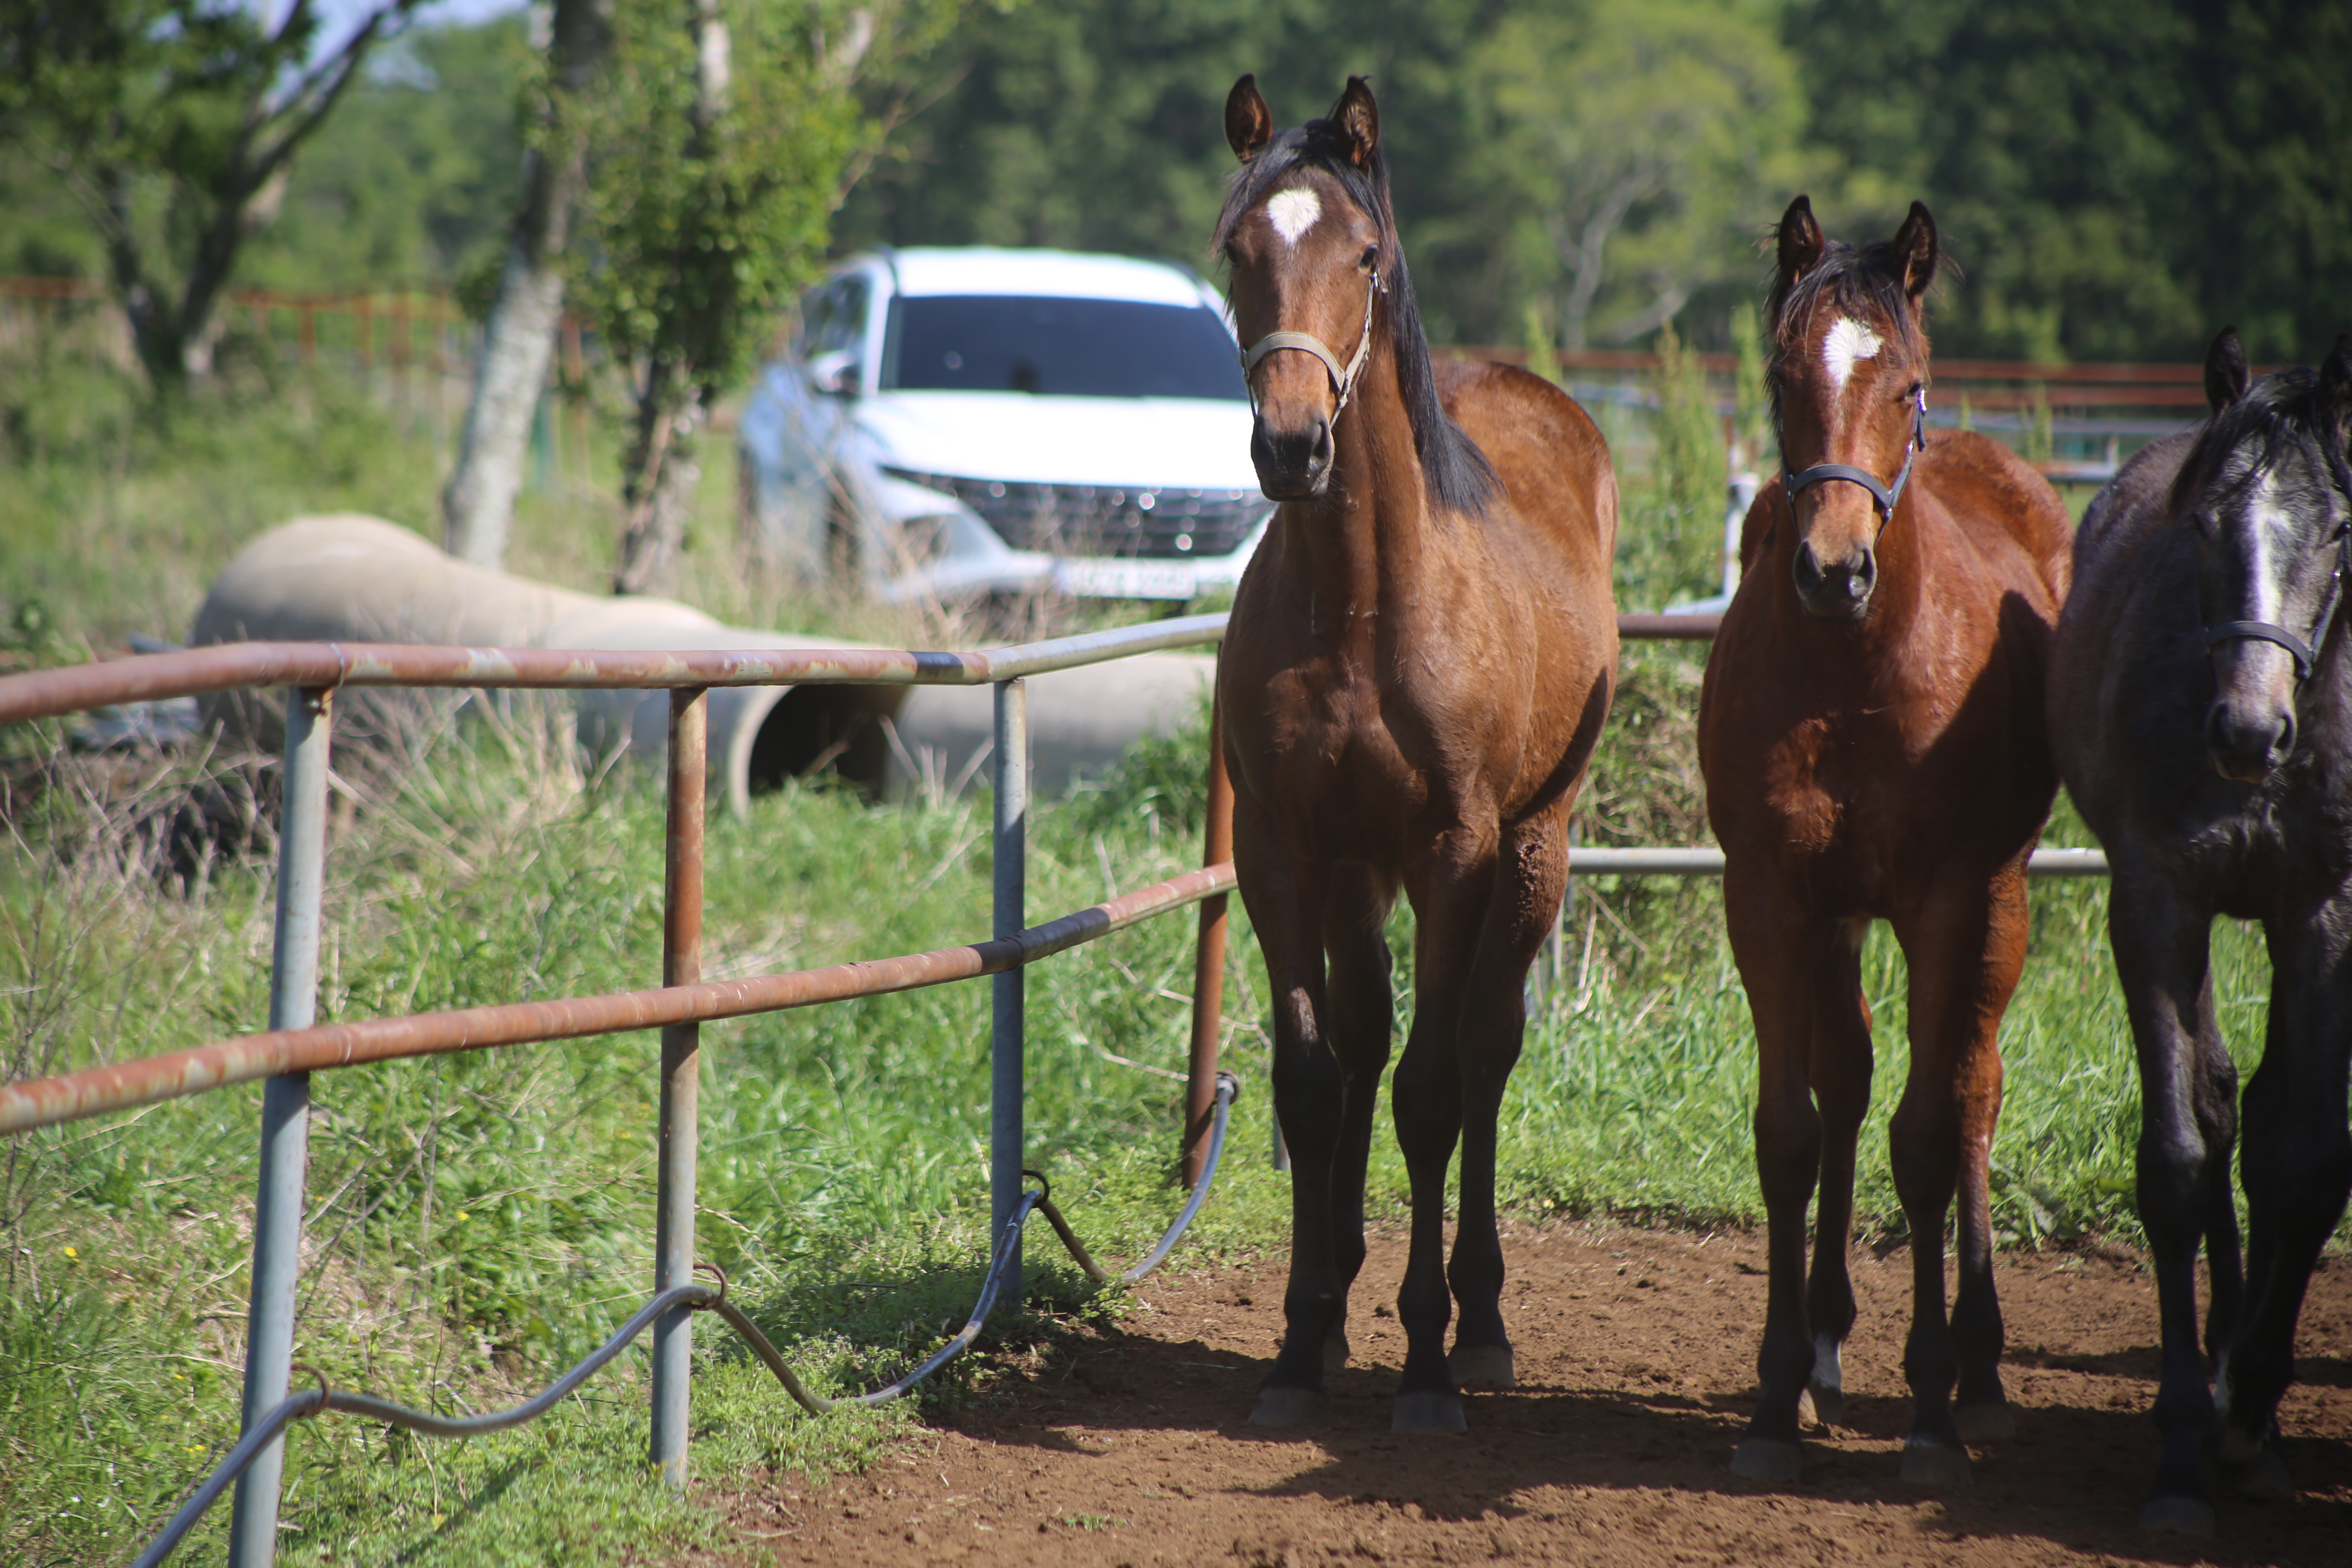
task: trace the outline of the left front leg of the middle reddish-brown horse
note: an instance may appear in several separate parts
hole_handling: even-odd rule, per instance
[[[1757,1413],[1731,1453],[1750,1481],[1797,1479],[1797,1401],[1813,1373],[1804,1309],[1804,1220],[1820,1175],[1811,1051],[1816,990],[1837,922],[1811,914],[1766,867],[1724,867],[1724,924],[1757,1025],[1757,1180],[1764,1187],[1769,1291],[1757,1349]]]

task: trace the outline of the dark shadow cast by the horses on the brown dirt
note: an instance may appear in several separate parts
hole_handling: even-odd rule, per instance
[[[2147,1418],[2152,1347],[2098,1356],[2020,1352],[2013,1363],[2129,1378],[2136,1394],[2119,1408],[2020,1403],[2018,1436],[1973,1450],[1971,1488],[1945,1493],[1919,1523],[1886,1516],[1886,1528],[1905,1535],[1910,1549],[1936,1552],[1938,1542],[1983,1537],[2147,1563],[2340,1561],[2352,1540],[2352,1507],[2331,1497],[2263,1505],[2223,1497],[2220,1535],[2211,1542],[2133,1526],[2157,1455]],[[1534,1488],[1679,1490],[1759,1502],[1778,1495],[1830,1507],[1915,1507],[1929,1497],[1898,1476],[1896,1446],[1910,1422],[1910,1399],[1900,1392],[1851,1394],[1839,1427],[1846,1441],[1809,1441],[1804,1481],[1769,1488],[1726,1467],[1752,1392],[1705,1394],[1677,1385],[1642,1394],[1531,1382],[1508,1394],[1472,1394],[1468,1436],[1416,1439],[1388,1432],[1395,1368],[1348,1366],[1331,1378],[1327,1427],[1272,1432],[1247,1422],[1268,1366],[1200,1340],[1101,1328],[1042,1371],[997,1385],[953,1425],[988,1443],[1040,1453],[1094,1453],[1087,1443],[1094,1432],[1275,1441],[1296,1450],[1298,1467],[1275,1486],[1247,1488],[1254,1495],[1411,1505],[1439,1521],[1526,1516]],[[2324,1385],[2340,1385],[2352,1371],[2340,1359],[2298,1366]],[[1668,1371],[1649,1378],[1677,1382]],[[1856,1448],[1853,1439],[1872,1446]],[[2307,1493],[2340,1497],[2352,1488],[2352,1443],[2288,1436],[2286,1455]],[[1214,1476],[1204,1483],[1216,1486]]]

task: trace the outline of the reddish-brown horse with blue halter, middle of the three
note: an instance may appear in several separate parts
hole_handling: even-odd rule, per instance
[[[1745,576],[1698,698],[1724,914],[1757,1023],[1771,1295],[1757,1410],[1731,1469],[1759,1481],[1797,1479],[1804,1406],[1830,1422],[1844,1413],[1872,919],[1893,924],[1910,964],[1912,1063],[1889,1128],[1912,1239],[1903,1476],[1964,1483],[1964,1439],[2011,1429],[1987,1159],[1997,1032],[2025,961],[2025,856],[2058,790],[2042,675],[2067,517],[2009,449],[1926,440],[1919,301],[1933,277],[1936,221],[1917,202],[1893,240],[1865,247],[1825,242],[1802,195],[1780,219],[1766,386],[1783,468],[1748,512]]]

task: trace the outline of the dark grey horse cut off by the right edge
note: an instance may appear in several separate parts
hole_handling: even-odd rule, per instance
[[[2277,1410],[2296,1314],[2352,1192],[2352,658],[2336,614],[2352,339],[2249,388],[2225,327],[2206,400],[2201,428],[2140,451],[2084,515],[2049,689],[2058,769],[2114,867],[2107,936],[2140,1053],[2140,1220],[2164,1314],[2164,1458],[2140,1523],[2201,1535],[2209,1441],[2244,1490],[2291,1490]],[[2244,1107],[2244,1276],[2216,914],[2260,919],[2272,964]],[[2199,1241],[2216,1389],[2197,1356]]]

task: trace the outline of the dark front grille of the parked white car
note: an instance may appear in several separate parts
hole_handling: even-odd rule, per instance
[[[1112,489],[1108,484],[1007,484],[887,470],[955,496],[1014,550],[1190,559],[1232,555],[1275,503],[1254,489]]]

